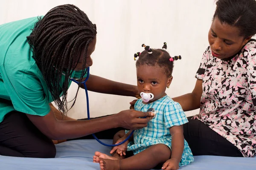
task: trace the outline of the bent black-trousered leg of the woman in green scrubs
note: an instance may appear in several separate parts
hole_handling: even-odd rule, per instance
[[[0,155],[54,158],[55,145],[41,133],[25,113],[8,113],[0,123]]]

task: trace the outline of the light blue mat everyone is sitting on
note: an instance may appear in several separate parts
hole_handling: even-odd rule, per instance
[[[110,151],[96,140],[68,141],[57,144],[56,149],[54,159],[0,156],[0,170],[99,170],[99,164],[93,163],[94,152]],[[256,170],[256,158],[195,156],[194,162],[180,170]]]

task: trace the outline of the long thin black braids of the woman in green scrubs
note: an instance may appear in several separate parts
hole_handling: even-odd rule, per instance
[[[43,18],[38,19],[27,40],[52,99],[59,110],[66,114],[70,76],[79,62],[82,49],[84,49],[84,56],[80,81],[85,74],[87,50],[90,42],[96,37],[96,25],[83,11],[70,4],[52,8]],[[64,83],[61,84],[63,72],[65,72],[65,78]],[[76,96],[78,90],[79,87]],[[62,99],[61,92],[63,92]],[[76,96],[73,105],[76,102]]]

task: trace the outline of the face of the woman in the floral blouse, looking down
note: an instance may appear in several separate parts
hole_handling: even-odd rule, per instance
[[[239,28],[221,23],[218,17],[212,21],[208,41],[212,56],[219,59],[232,57],[250,40],[251,37],[240,36]]]

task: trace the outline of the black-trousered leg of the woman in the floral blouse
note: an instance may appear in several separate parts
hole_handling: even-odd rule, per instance
[[[215,155],[243,157],[240,150],[200,120],[190,119],[183,125],[184,138],[194,156]]]

